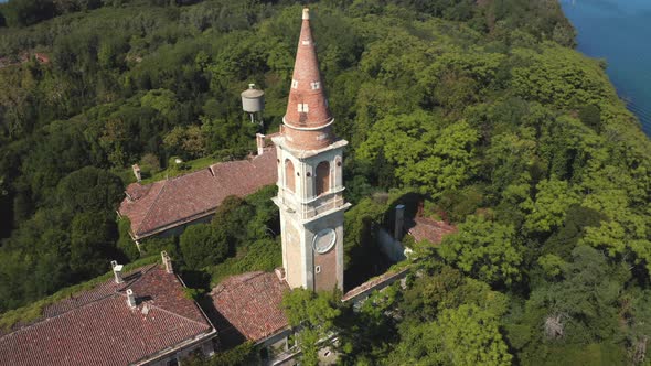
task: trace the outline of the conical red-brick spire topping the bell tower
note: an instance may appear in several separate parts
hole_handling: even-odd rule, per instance
[[[303,9],[302,12],[291,88],[282,121],[287,127],[285,136],[292,148],[314,150],[331,143],[330,125],[333,118],[328,109],[328,99],[319,73],[309,9]]]

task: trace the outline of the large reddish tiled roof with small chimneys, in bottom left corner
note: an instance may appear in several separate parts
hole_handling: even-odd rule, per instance
[[[127,304],[134,290],[137,308]],[[0,336],[7,365],[130,365],[214,332],[183,284],[158,266],[124,283],[107,280],[43,310],[36,322]]]

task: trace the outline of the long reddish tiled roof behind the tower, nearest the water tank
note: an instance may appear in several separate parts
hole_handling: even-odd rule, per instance
[[[131,220],[136,238],[212,214],[230,195],[245,196],[277,180],[276,149],[250,160],[230,161],[190,174],[127,186],[120,215]]]

